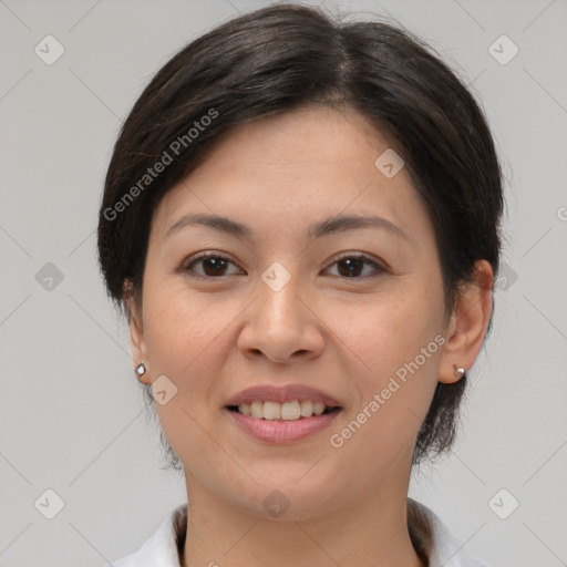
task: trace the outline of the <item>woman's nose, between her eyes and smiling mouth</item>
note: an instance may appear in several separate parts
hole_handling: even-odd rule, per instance
[[[238,337],[238,348],[246,357],[266,357],[272,362],[310,360],[324,348],[324,326],[318,318],[309,295],[298,278],[277,291],[262,280],[258,297],[246,310],[247,318]]]

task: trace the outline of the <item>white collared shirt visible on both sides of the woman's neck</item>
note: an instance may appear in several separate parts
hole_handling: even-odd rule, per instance
[[[461,544],[454,539],[443,525],[441,519],[422,504],[414,503],[426,516],[433,533],[433,545],[430,554],[429,567],[488,567],[485,563],[474,557],[465,557],[461,554]],[[181,516],[187,508],[187,504],[177,506],[159,525],[155,534],[133,555],[114,561],[114,567],[181,567],[177,537],[184,538],[186,529],[179,523],[176,533],[174,518]]]

